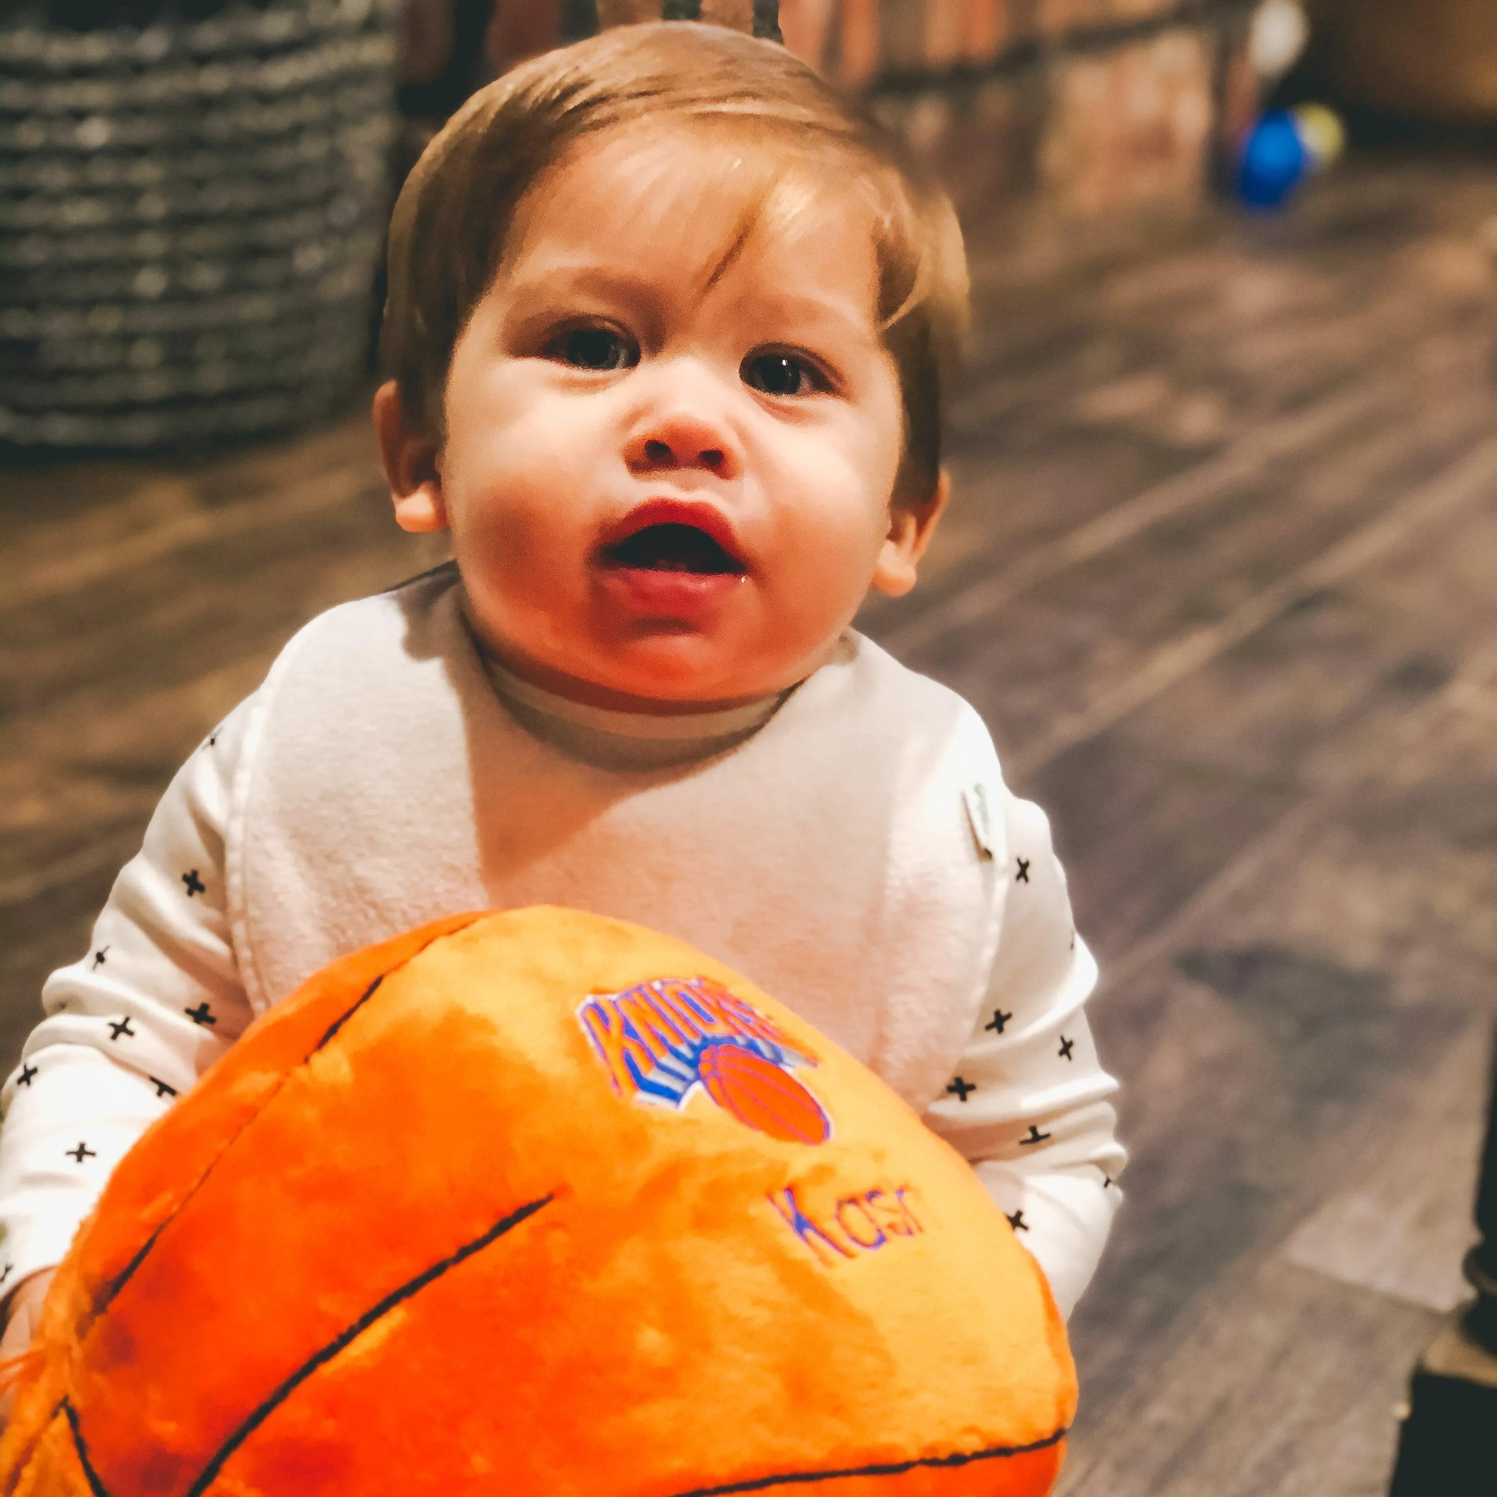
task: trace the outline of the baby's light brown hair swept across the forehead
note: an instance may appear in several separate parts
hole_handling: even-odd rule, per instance
[[[868,207],[877,317],[900,374],[895,499],[924,504],[966,329],[967,265],[948,199],[916,184],[894,138],[783,46],[695,22],[626,25],[546,52],[476,93],[427,147],[395,204],[380,364],[407,421],[440,440],[458,335],[499,271],[525,193],[582,141],[629,127],[731,135],[772,163],[751,216],[725,223],[725,263],[835,184]],[[790,190],[799,187],[796,193]]]

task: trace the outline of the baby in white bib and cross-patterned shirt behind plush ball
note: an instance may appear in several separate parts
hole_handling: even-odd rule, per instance
[[[313,620],[168,789],[3,1090],[3,1352],[254,1018],[436,916],[566,904],[789,1003],[960,1150],[1067,1313],[1123,1163],[1048,825],[856,635],[946,504],[945,199],[781,48],[623,27],[433,142],[374,425],[455,561]],[[308,1141],[310,1144],[311,1141]]]

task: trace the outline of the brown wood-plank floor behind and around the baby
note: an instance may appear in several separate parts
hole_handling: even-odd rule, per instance
[[[957,507],[868,629],[1049,810],[1126,1084],[1072,1497],[1371,1497],[1461,1293],[1497,1009],[1497,162],[1290,217],[973,232]],[[1064,249],[1055,246],[1064,241]],[[361,415],[12,467],[0,1057],[177,763],[310,614],[439,552]]]

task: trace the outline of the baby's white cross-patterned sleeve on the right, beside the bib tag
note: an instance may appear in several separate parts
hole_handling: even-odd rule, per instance
[[[925,1121],[972,1160],[1069,1316],[1102,1256],[1124,1153],[1082,1010],[1097,979],[1075,934],[1049,823],[1006,805],[1003,931],[988,994]]]

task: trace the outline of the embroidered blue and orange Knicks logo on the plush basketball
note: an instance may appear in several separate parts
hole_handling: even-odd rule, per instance
[[[816,1058],[792,1049],[768,1015],[711,978],[657,978],[623,993],[594,993],[576,1016],[623,1097],[680,1109],[701,1087],[769,1138],[831,1138],[826,1109],[790,1075]]]

